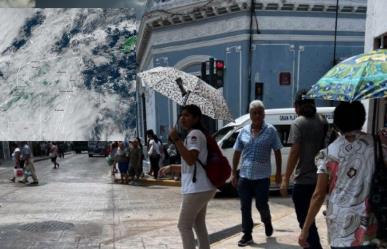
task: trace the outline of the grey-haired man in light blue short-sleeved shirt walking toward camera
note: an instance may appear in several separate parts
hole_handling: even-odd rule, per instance
[[[238,246],[253,243],[253,219],[251,204],[255,198],[255,206],[265,225],[266,236],[273,234],[269,208],[269,187],[271,176],[271,151],[276,161],[276,183],[281,183],[281,140],[273,125],[266,123],[265,107],[262,101],[250,103],[249,113],[251,124],[243,127],[234,144],[232,184],[237,187],[242,211],[243,236]],[[237,168],[242,158],[239,174]]]

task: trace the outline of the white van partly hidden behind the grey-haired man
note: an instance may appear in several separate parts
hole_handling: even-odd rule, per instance
[[[317,112],[327,119],[329,124],[333,123],[333,111],[334,107],[317,107]],[[286,164],[288,161],[288,155],[290,150],[290,144],[287,143],[290,125],[293,120],[297,118],[297,114],[294,108],[283,109],[266,109],[265,110],[265,122],[272,124],[278,131],[278,135],[284,146],[281,149],[282,154],[282,174],[285,174]],[[245,114],[235,120],[235,122],[229,123],[222,129],[214,134],[214,138],[221,148],[223,154],[232,165],[232,156],[234,154],[233,146],[236,138],[239,135],[240,130],[247,124],[250,124],[250,114]],[[275,158],[274,153],[271,153],[271,185],[270,190],[278,190],[279,185],[275,183]],[[289,186],[292,186],[290,182]],[[227,187],[227,186],[225,186]]]

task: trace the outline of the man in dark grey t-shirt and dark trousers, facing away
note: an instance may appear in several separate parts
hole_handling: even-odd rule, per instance
[[[306,90],[299,91],[294,102],[298,117],[290,127],[288,143],[292,146],[280,188],[281,194],[287,196],[289,179],[295,169],[292,199],[301,229],[316,188],[317,167],[314,158],[324,147],[328,130],[328,122],[317,114],[314,100],[304,99],[306,93]],[[322,249],[315,223],[310,227],[308,243],[311,248]]]

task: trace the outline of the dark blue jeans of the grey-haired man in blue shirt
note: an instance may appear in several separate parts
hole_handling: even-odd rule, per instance
[[[238,181],[238,193],[241,200],[242,232],[251,235],[253,232],[253,218],[251,215],[251,204],[255,198],[255,206],[261,215],[263,223],[271,222],[269,209],[269,186],[270,179],[249,180],[240,178]]]

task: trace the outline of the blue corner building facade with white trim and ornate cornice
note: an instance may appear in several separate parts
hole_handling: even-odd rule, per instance
[[[175,67],[200,75],[225,62],[223,94],[235,118],[253,99],[291,107],[337,61],[363,52],[366,0],[148,1],[137,40],[138,71]],[[336,22],[337,21],[337,22]],[[337,25],[336,25],[337,24]],[[138,134],[165,138],[178,107],[137,81]],[[218,121],[220,128],[224,123]]]

